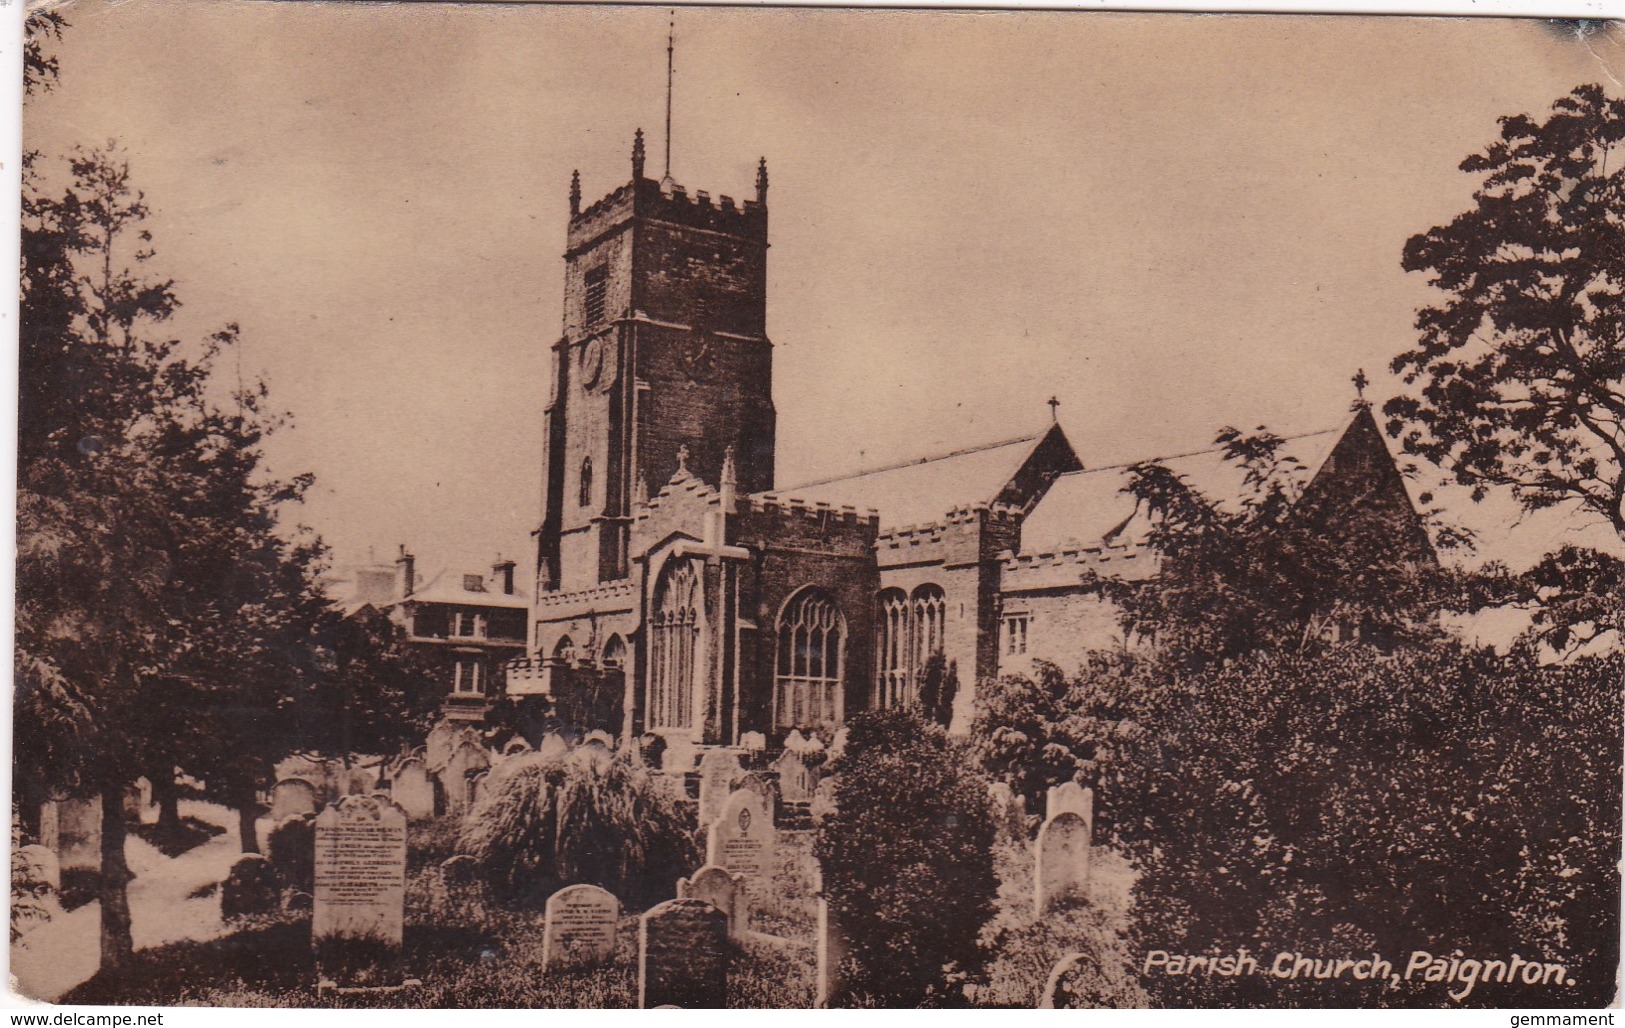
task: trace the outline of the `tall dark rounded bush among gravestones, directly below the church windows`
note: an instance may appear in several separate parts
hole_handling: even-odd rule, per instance
[[[980,971],[993,914],[988,783],[915,711],[848,723],[835,812],[814,838],[830,916],[847,937],[835,999],[887,1007],[957,1004]]]

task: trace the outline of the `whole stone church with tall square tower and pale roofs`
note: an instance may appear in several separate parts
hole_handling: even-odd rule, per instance
[[[754,198],[691,193],[645,175],[639,132],[630,172],[588,206],[570,182],[530,656],[507,664],[507,695],[606,695],[603,726],[679,750],[778,745],[910,703],[941,654],[964,731],[978,682],[1124,645],[1079,578],[1155,573],[1126,466],[1086,468],[1056,422],[778,484],[767,162]],[[1432,559],[1368,411],[1289,450],[1305,489],[1391,512]],[[1165,463],[1214,499],[1240,492],[1216,451]]]

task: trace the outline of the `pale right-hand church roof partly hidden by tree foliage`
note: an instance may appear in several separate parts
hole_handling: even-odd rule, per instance
[[[1294,468],[1287,489],[1292,499],[1315,477],[1346,430],[1347,427],[1328,429],[1284,440],[1280,456]],[[1224,460],[1224,450],[1217,447],[1074,471],[1055,479],[1050,492],[1027,515],[1020,529],[1022,552],[1056,552],[1068,544],[1094,547],[1144,542],[1150,520],[1138,508],[1134,497],[1124,492],[1129,469],[1136,464],[1162,464],[1225,510],[1237,510],[1245,494],[1245,471]]]

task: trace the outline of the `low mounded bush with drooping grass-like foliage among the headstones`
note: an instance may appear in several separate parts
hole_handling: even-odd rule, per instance
[[[670,900],[700,856],[663,781],[627,757],[596,763],[585,750],[497,765],[460,848],[502,903],[523,906],[585,882],[642,909]]]

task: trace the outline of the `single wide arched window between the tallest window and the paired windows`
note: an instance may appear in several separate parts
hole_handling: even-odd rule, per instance
[[[778,674],[774,724],[838,724],[845,677],[847,619],[822,590],[796,593],[778,614]]]

